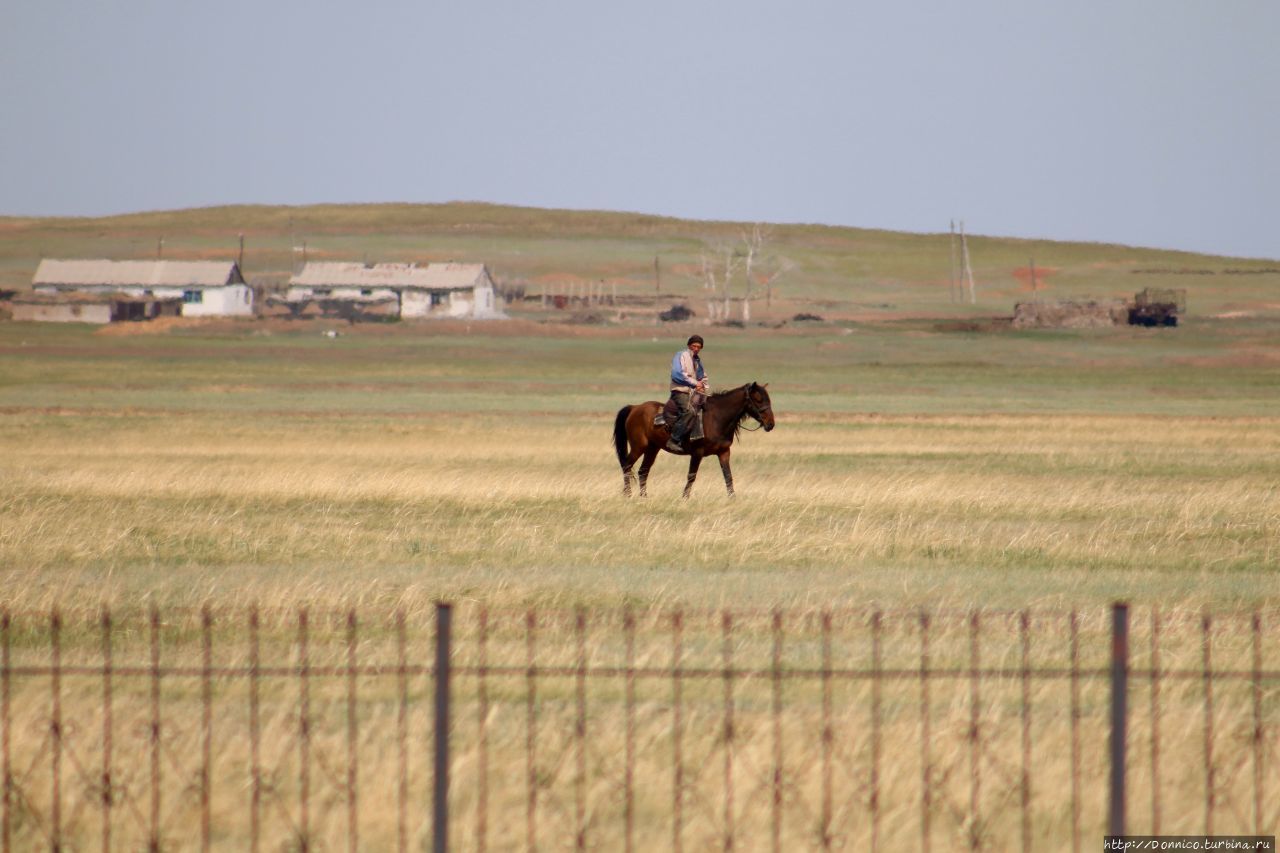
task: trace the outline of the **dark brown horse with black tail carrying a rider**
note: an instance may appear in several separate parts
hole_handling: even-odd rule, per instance
[[[658,451],[667,450],[671,429],[666,425],[657,426],[653,423],[660,411],[662,403],[649,401],[639,406],[623,406],[618,410],[617,418],[613,419],[613,448],[618,453],[618,465],[622,466],[622,493],[627,497],[631,496],[631,466],[636,464],[636,460],[644,456],[644,462],[640,465],[640,497],[644,497],[649,469],[658,459]],[[707,405],[703,409],[703,433],[705,437],[696,442],[689,442],[691,450],[687,451],[686,498],[690,489],[694,488],[698,466],[703,464],[704,456],[719,457],[721,470],[724,473],[724,488],[728,489],[730,497],[733,496],[733,473],[728,466],[728,448],[742,428],[742,419],[749,416],[758,420],[764,426],[764,432],[773,429],[773,407],[765,386],[753,382],[707,398]]]

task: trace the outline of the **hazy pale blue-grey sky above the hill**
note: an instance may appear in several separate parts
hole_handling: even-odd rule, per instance
[[[1280,259],[1274,0],[8,0],[0,214],[489,201]]]

